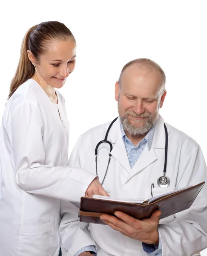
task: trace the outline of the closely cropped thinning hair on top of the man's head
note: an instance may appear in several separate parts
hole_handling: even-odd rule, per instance
[[[133,61],[129,61],[126,65],[124,65],[123,69],[121,70],[121,74],[118,79],[119,87],[121,87],[121,78],[124,73],[127,72],[127,69],[131,66],[135,66],[138,70],[145,71],[146,73],[151,73],[152,71],[158,71],[161,74],[161,83],[157,90],[157,97],[160,98],[162,94],[165,92],[165,82],[166,76],[162,68],[155,62],[148,58],[138,58]]]

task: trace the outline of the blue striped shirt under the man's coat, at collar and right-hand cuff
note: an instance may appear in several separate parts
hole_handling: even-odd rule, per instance
[[[120,123],[121,124],[121,123]],[[144,150],[144,147],[147,144],[148,150],[150,150],[152,146],[152,139],[155,132],[155,125],[150,129],[150,131],[147,133],[147,135],[144,137],[143,140],[141,140],[138,145],[134,145],[131,140],[126,136],[126,133],[124,131],[124,128],[121,124],[121,134],[122,139],[124,141],[124,145],[126,148],[126,154],[129,158],[129,163],[131,168],[135,165],[136,161],[140,157],[142,151]],[[161,237],[159,234],[159,245],[154,246],[152,244],[145,244],[142,243],[143,250],[147,253],[147,255],[150,256],[161,256],[162,255],[162,243],[161,243]]]

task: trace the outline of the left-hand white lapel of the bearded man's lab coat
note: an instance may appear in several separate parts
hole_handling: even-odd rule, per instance
[[[129,164],[129,158],[126,154],[126,148],[122,139],[119,118],[112,125],[111,131],[109,131],[108,140],[111,141],[113,145],[113,149],[111,151],[112,157],[114,157],[127,172],[130,172],[131,166]]]

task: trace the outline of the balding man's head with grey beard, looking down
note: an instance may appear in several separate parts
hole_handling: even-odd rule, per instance
[[[165,96],[165,74],[157,63],[146,58],[127,63],[115,84],[118,113],[126,134],[145,136],[157,122]]]

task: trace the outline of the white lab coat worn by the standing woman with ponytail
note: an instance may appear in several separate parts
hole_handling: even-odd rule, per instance
[[[95,178],[67,166],[69,125],[64,99],[57,95],[53,104],[29,79],[6,104],[0,129],[0,256],[58,256],[60,199],[80,201]]]

